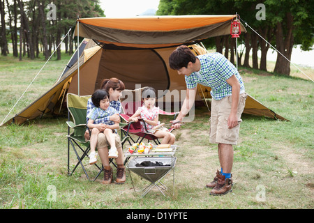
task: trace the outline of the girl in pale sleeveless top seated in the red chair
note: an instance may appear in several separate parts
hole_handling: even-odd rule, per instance
[[[135,114],[128,121],[138,121],[138,118],[143,118],[146,123],[147,131],[153,133],[157,138],[163,138],[161,144],[174,144],[175,136],[167,128],[162,128],[163,124],[158,121],[159,107],[155,107],[156,91],[149,87],[142,93],[144,105],[137,109]],[[145,132],[144,123],[141,121],[142,131]]]

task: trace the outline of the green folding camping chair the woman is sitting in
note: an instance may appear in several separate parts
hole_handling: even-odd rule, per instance
[[[87,170],[84,167],[83,160],[84,157],[88,157],[88,153],[90,151],[90,144],[89,141],[85,140],[84,133],[88,129],[86,121],[87,101],[89,98],[91,98],[91,95],[80,96],[73,93],[68,93],[66,97],[68,107],[68,121],[66,122],[68,124],[68,175],[72,175],[75,169],[81,165],[85,175],[90,180],[89,174],[87,174]],[[72,116],[73,121],[70,121],[70,116]],[[121,125],[124,124],[121,123]],[[70,130],[73,130],[73,132],[70,133]],[[121,142],[125,139],[126,138],[121,140]],[[78,160],[72,171],[70,171],[70,147],[73,148],[73,151]],[[112,163],[114,167],[117,168],[117,165],[114,164],[113,160],[114,159],[109,159],[110,163]],[[94,178],[94,180],[96,180],[101,171],[103,171],[103,165],[99,167],[97,164],[94,164],[93,166],[98,169],[98,174]]]

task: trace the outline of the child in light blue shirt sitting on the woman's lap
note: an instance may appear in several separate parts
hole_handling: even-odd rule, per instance
[[[117,114],[117,110],[110,107],[109,104],[109,95],[107,91],[99,89],[91,95],[91,101],[95,105],[95,107],[89,112],[87,118],[89,121],[87,126],[91,130],[91,153],[89,155],[89,164],[95,164],[97,162],[96,157],[96,145],[97,145],[97,137],[100,132],[103,132],[107,137],[107,141],[110,144],[109,157],[117,158],[118,151],[115,144],[114,134],[115,129],[119,128],[119,123],[114,123],[113,121],[103,121],[104,117],[112,116],[113,114]]]

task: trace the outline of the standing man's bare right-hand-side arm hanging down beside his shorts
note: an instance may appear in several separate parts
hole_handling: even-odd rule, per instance
[[[240,83],[235,75],[232,75],[229,79],[227,79],[227,83],[232,87],[231,91],[231,112],[228,118],[228,128],[234,128],[238,125],[237,118],[237,109],[239,104],[239,95],[240,95]]]

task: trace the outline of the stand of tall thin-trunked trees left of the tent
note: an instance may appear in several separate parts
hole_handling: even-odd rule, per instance
[[[5,2],[7,8],[5,7]],[[47,20],[53,3],[57,6],[56,20]],[[7,13],[7,15],[6,15]],[[104,17],[99,0],[0,0],[1,53],[8,52],[8,34],[13,44],[13,54],[18,56],[18,34],[20,33],[20,60],[27,51],[27,56],[34,59],[43,51],[45,59],[52,53],[70,27],[74,31],[77,15],[80,17]],[[20,27],[17,27],[20,24]],[[71,36],[72,33],[69,34]],[[67,38],[66,51],[73,53],[73,38]],[[68,42],[70,45],[68,45]],[[23,52],[24,49],[24,52]],[[57,59],[61,59],[61,50],[57,49]]]

